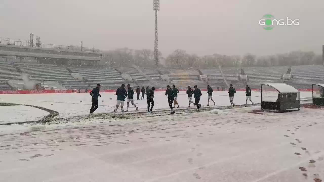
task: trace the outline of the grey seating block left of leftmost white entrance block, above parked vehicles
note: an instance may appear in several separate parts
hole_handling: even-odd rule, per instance
[[[52,81],[52,80],[75,80],[70,72],[61,66],[38,65],[38,64],[17,64],[17,67],[26,73],[31,80]]]

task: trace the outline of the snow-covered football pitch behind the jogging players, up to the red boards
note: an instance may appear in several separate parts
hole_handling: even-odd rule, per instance
[[[201,97],[200,104],[203,106],[207,105],[207,95],[203,91],[203,96]],[[167,96],[164,95],[165,92],[155,92],[154,98],[154,109],[165,109],[168,107]],[[95,113],[107,113],[112,112],[116,107],[117,96],[114,93],[101,93],[102,97],[99,97],[99,108]],[[230,105],[227,91],[214,91],[213,99],[216,102],[216,106],[228,106]],[[252,101],[255,103],[261,102],[260,92],[252,92]],[[147,110],[146,96],[144,100],[136,100],[135,104],[139,110]],[[310,99],[312,97],[311,92],[301,92],[302,99]],[[112,100],[110,100],[110,98]],[[234,103],[245,104],[246,95],[244,91],[238,91]],[[82,102],[80,102],[82,101]],[[194,99],[193,99],[194,101]],[[8,94],[0,95],[0,102],[15,103],[15,104],[28,104],[34,106],[40,106],[44,108],[49,108],[59,112],[58,117],[71,117],[85,115],[89,113],[91,107],[91,96],[89,93],[70,93],[70,94]],[[180,91],[178,94],[178,103],[180,108],[188,107],[188,96],[185,91]],[[213,102],[210,103],[213,105]],[[126,103],[125,106],[126,108]],[[191,104],[192,107],[192,104]],[[3,113],[3,109],[0,107],[0,113]],[[130,105],[129,110],[135,110],[135,108]],[[119,111],[120,108],[119,108]]]

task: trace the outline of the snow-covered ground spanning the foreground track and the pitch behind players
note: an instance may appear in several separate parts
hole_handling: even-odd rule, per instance
[[[115,101],[109,102],[110,96],[113,95],[103,94],[104,105],[114,104]],[[1,95],[0,102],[48,107],[60,115],[63,113],[64,117],[83,115],[90,104],[85,94],[9,97]],[[214,98],[219,105],[228,105],[227,97]],[[156,108],[168,107],[161,93],[156,93],[155,100]],[[260,97],[253,100],[260,102]],[[235,101],[244,104],[245,97],[236,97]],[[145,102],[139,101],[139,106],[145,108]],[[185,95],[179,96],[179,103],[187,107]],[[202,97],[202,104],[206,104],[206,96]],[[98,112],[112,109],[101,108]],[[313,178],[323,179],[324,110],[301,108],[286,113],[249,113],[258,109],[260,106],[222,110],[222,114],[188,112],[140,119],[100,116],[96,122],[78,124],[0,126],[0,181],[311,182]],[[69,111],[73,113],[69,115]],[[300,167],[307,171],[303,172],[304,168]]]

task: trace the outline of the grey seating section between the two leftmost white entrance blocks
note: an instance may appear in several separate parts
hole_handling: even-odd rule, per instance
[[[91,87],[95,87],[98,83],[102,86],[101,88],[116,89],[121,86],[121,84],[135,84],[133,82],[128,82],[121,77],[114,68],[69,68],[74,73],[79,73],[86,79],[84,80]]]

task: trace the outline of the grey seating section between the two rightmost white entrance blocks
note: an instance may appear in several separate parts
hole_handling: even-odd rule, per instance
[[[281,76],[287,72],[288,68],[289,66],[245,67],[244,72],[250,78],[249,86],[260,88],[260,84],[283,83]]]

